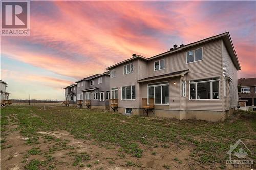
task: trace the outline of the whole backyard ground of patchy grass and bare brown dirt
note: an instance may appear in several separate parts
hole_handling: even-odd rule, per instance
[[[255,161],[255,130],[255,118],[239,116],[212,123],[8,106],[1,108],[1,169],[226,169],[238,139]]]

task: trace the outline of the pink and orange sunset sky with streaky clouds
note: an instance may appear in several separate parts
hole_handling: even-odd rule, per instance
[[[11,99],[63,100],[63,88],[140,54],[229,32],[242,70],[256,77],[255,1],[31,1],[30,36],[1,36]]]

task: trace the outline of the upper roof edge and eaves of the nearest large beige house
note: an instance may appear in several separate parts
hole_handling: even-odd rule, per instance
[[[193,47],[193,46],[196,46],[196,45],[200,45],[200,44],[207,43],[207,42],[210,42],[210,41],[215,41],[215,40],[218,40],[218,39],[222,39],[223,40],[223,42],[224,42],[224,44],[225,44],[225,46],[227,48],[227,51],[228,51],[228,53],[229,53],[229,55],[230,55],[230,57],[231,57],[231,59],[232,59],[232,61],[234,63],[234,66],[236,66],[237,70],[241,70],[241,66],[239,64],[236,51],[234,50],[234,46],[233,46],[231,37],[229,35],[229,32],[225,32],[225,33],[222,33],[222,34],[219,34],[219,35],[215,35],[215,36],[212,36],[212,37],[200,40],[200,41],[196,41],[196,42],[184,45],[182,47],[178,47],[178,48],[176,48],[174,50],[170,50],[170,51],[167,51],[167,52],[155,55],[155,56],[150,57],[150,58],[145,58],[143,56],[138,55],[136,57],[124,60],[122,62],[119,62],[119,63],[115,64],[115,65],[112,65],[112,66],[110,66],[110,67],[108,67],[106,69],[114,68],[116,66],[119,66],[121,64],[127,63],[129,61],[132,61],[132,60],[135,60],[135,59],[138,59],[138,58],[141,58],[141,59],[143,59],[145,61],[150,61],[150,60],[156,59],[158,57],[163,57],[163,56],[166,56],[166,55],[169,55],[169,54],[173,54],[173,53],[185,50],[187,48],[190,48],[190,47]]]

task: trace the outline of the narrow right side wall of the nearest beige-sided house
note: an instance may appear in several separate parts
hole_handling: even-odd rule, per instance
[[[238,103],[238,78],[237,78],[237,69],[234,66],[228,51],[222,42],[222,64],[223,64],[223,77],[222,77],[222,84],[224,84],[224,77],[228,76],[232,79],[231,82],[227,83],[228,86],[228,95],[223,96],[223,106],[222,111],[229,110],[230,108],[235,108],[237,110],[237,103]],[[232,89],[230,89],[232,88]],[[223,88],[221,88],[223,92]],[[227,92],[227,88],[226,88]],[[232,94],[230,94],[232,92]],[[231,96],[231,97],[230,97]]]

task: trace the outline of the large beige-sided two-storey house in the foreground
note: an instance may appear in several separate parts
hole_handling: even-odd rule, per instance
[[[106,69],[110,111],[218,121],[237,109],[241,67],[228,32]]]

